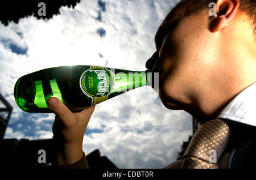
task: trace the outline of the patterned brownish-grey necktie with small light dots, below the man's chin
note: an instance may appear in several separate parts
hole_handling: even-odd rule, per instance
[[[217,169],[228,145],[230,128],[220,119],[205,122],[193,135],[183,156],[183,169]]]

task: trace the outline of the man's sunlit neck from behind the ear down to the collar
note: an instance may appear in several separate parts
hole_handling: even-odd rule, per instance
[[[256,82],[255,36],[245,15],[237,15],[236,23],[211,36],[214,57],[204,85],[196,84],[189,95],[187,112],[204,123],[218,114],[239,93]]]

